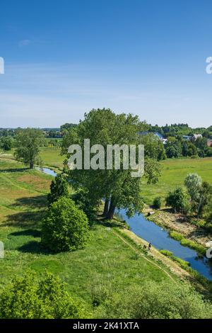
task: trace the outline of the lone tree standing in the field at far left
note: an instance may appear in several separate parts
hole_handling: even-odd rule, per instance
[[[30,169],[37,159],[39,159],[40,146],[45,142],[42,130],[36,128],[26,128],[19,130],[16,135],[16,159],[24,164],[30,164]]]

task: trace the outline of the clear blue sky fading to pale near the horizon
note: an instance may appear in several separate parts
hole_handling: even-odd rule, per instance
[[[103,107],[212,125],[211,0],[1,0],[0,11],[0,128]]]

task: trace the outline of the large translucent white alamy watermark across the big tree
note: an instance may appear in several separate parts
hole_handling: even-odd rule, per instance
[[[78,170],[131,170],[131,177],[141,177],[144,174],[143,145],[102,145],[90,147],[90,139],[84,140],[84,147],[71,145],[68,149],[69,169]]]

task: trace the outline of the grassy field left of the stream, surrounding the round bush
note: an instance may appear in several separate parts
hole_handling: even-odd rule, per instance
[[[121,291],[146,280],[174,283],[160,267],[135,256],[133,249],[105,225],[94,225],[83,250],[47,252],[40,244],[40,220],[51,179],[40,171],[24,169],[18,162],[0,159],[0,240],[5,245],[5,258],[0,259],[1,286],[26,269],[38,274],[47,269],[90,306],[94,284]]]

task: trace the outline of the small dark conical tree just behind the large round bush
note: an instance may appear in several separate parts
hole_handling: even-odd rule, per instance
[[[61,196],[69,196],[69,187],[65,177],[62,174],[57,174],[50,185],[50,193],[47,197],[49,205],[57,201]]]

